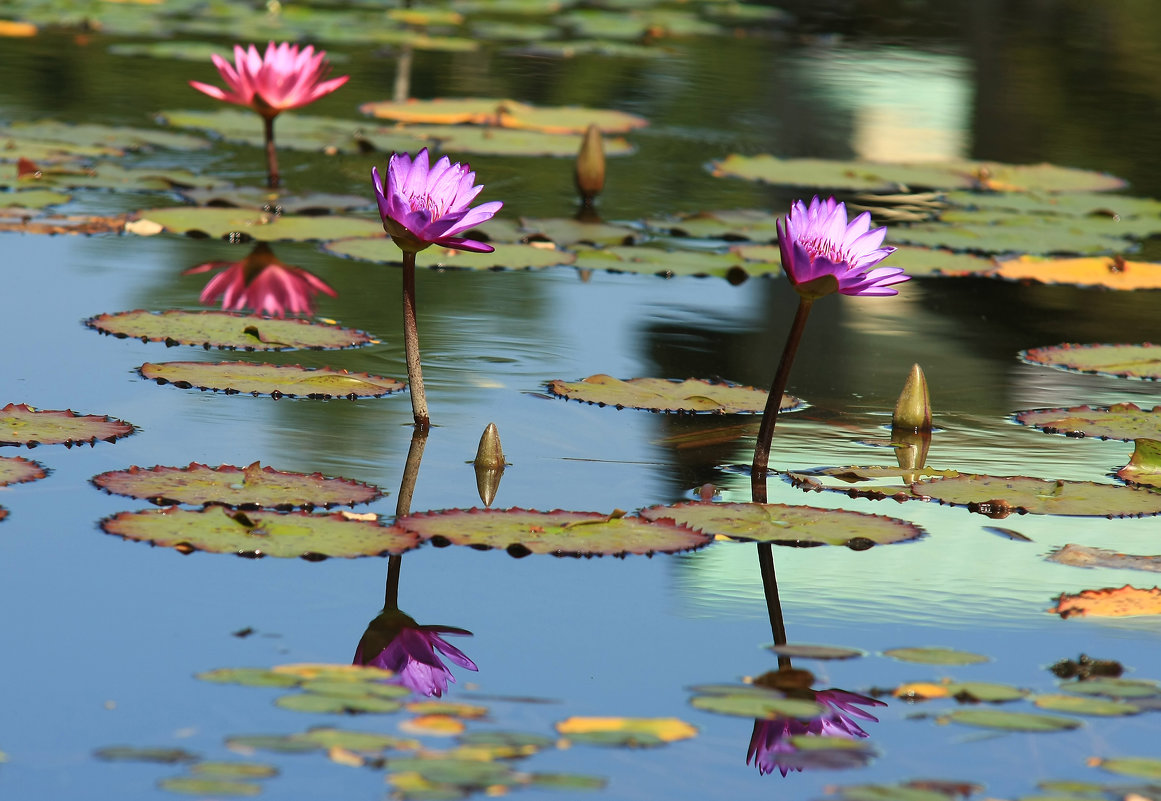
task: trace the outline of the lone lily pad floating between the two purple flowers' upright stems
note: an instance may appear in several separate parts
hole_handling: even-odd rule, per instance
[[[642,409],[651,412],[709,412],[714,414],[760,413],[770,392],[753,387],[704,378],[629,378],[622,381],[597,374],[580,381],[548,382],[548,391],[572,400],[598,406]],[[783,395],[781,411],[791,411],[802,402]]]

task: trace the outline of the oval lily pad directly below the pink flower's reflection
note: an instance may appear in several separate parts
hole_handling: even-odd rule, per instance
[[[312,351],[339,349],[373,345],[370,334],[338,325],[304,319],[283,319],[238,315],[230,311],[163,312],[145,310],[98,315],[85,325],[117,338],[134,337],[147,342],[197,345],[207,349]]]

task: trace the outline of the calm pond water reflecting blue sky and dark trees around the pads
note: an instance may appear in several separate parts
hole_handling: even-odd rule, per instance
[[[138,8],[138,21],[153,13],[146,10],[151,6]],[[647,128],[627,136],[634,152],[608,159],[598,201],[606,221],[724,209],[781,214],[792,200],[813,194],[712,175],[708,163],[729,153],[1050,161],[1124,178],[1125,194],[1161,196],[1155,80],[1161,9],[1153,3],[867,0],[786,8],[793,21],[662,38],[651,45],[668,49],[659,58],[550,58],[492,41],[481,41],[474,52],[419,49],[411,95],[584,104],[647,118]],[[0,16],[23,13],[23,6],[0,6]],[[100,17],[108,9],[59,12],[73,22],[85,13]],[[258,21],[265,16],[252,14]],[[125,19],[110,17],[103,31],[45,28],[35,37],[5,38],[0,121],[151,128],[160,111],[217,110],[187,85],[217,81],[208,62],[110,52],[116,44],[153,41],[120,28]],[[533,20],[551,24],[553,16]],[[470,31],[468,22],[453,27],[461,36]],[[158,37],[168,33],[163,26]],[[211,34],[186,30],[179,38]],[[317,44],[342,58],[336,70],[352,78],[303,114],[355,120],[358,104],[391,96],[395,51],[341,38]],[[385,160],[384,153],[286,150],[283,181],[295,192],[366,196],[358,214],[374,218],[369,172]],[[470,156],[470,161],[486,187],[481,200],[504,201],[502,219],[569,217],[576,210],[571,159]],[[158,149],[125,163],[182,167],[244,186],[265,181],[260,150],[226,142],[200,151]],[[55,210],[111,215],[185,202],[171,192],[87,190]],[[182,555],[98,527],[107,515],[146,504],[103,493],[91,477],[134,464],[190,462],[260,461],[367,482],[388,495],[354,511],[392,519],[412,438],[405,394],[273,400],[158,387],[137,367],[238,358],[405,377],[398,266],[342,259],[316,243],[274,244],[282,261],[311,270],[336,290],[336,297],[319,298],[318,317],[382,338],[372,347],[239,355],[102,337],[81,325],[101,312],[199,309],[207,276],[183,270],[237,260],[248,250],[171,233],[0,233],[3,403],[109,414],[138,428],[92,448],[3,449],[5,456],[19,453],[51,471],[43,481],[0,490],[8,511],[0,522],[3,798],[173,798],[158,782],[188,773],[180,765],[95,756],[114,745],[180,748],[205,760],[274,765],[280,775],[264,780],[266,798],[374,799],[401,792],[385,782],[390,760],[383,770],[338,764],[322,752],[240,757],[225,741],[318,726],[401,735],[410,713],[295,712],[274,705],[283,691],[195,678],[219,668],[349,663],[382,608],[387,558]],[[1155,258],[1156,250],[1146,241],[1132,258]],[[691,500],[707,483],[723,500],[750,499],[745,466],[757,417],[599,407],[550,398],[545,385],[605,373],[722,377],[765,388],[796,302],[784,279],[734,284],[572,267],[420,269],[418,297],[434,427],[413,511],[479,505],[470,461],[489,423],[498,426],[511,462],[497,508],[633,512]],[[889,298],[824,298],[791,376],[789,391],[809,406],[780,420],[771,466],[892,463],[893,453],[884,447],[890,412],[908,370],[920,363],[938,427],[931,467],[1109,482],[1128,461],[1132,442],[1048,435],[1015,424],[1011,414],[1123,402],[1149,407],[1158,403],[1158,385],[1034,367],[1019,362],[1017,353],[1069,341],[1155,341],[1158,309],[1155,290],[978,277],[917,277]],[[774,548],[789,641],[865,652],[837,662],[795,659],[795,666],[814,672],[815,688],[871,694],[949,678],[1047,694],[1058,692],[1047,668],[1081,654],[1119,661],[1132,678],[1161,679],[1158,618],[1066,620],[1048,612],[1062,592],[1126,583],[1148,589],[1155,579],[1045,560],[1066,543],[1151,554],[1155,518],[990,520],[936,503],[803,493],[781,477],[771,478],[769,493],[772,503],[889,514],[926,532],[915,542],[865,551]],[[1030,541],[990,527],[1015,529]],[[454,644],[478,672],[453,668],[456,684],[446,695],[488,707],[485,720],[467,723],[469,731],[554,735],[554,724],[571,716],[678,717],[697,728],[695,737],[658,748],[575,743],[514,765],[599,777],[606,784],[593,798],[809,799],[836,785],[913,779],[971,782],[979,786],[978,796],[1009,799],[1044,793],[1038,782],[1070,779],[1105,782],[1089,791],[1119,798],[1108,782],[1132,780],[1102,772],[1090,759],[1161,757],[1155,712],[1090,716],[1065,733],[1003,733],[939,720],[958,708],[947,699],[909,703],[887,694],[881,698],[887,705],[873,710],[879,721],[861,723],[875,752],[867,764],[760,775],[747,764],[753,721],[691,706],[691,687],[738,683],[778,666],[765,649],[773,637],[752,543],[715,542],[687,554],[625,560],[517,560],[502,550],[427,544],[403,556],[398,600],[420,623],[474,633]],[[930,645],[988,661],[925,665],[882,654]],[[1029,701],[1003,708],[1038,712]],[[420,739],[431,749],[455,742]],[[570,791],[511,792],[533,799]]]

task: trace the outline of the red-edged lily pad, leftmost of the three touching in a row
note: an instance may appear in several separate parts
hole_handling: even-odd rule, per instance
[[[193,511],[171,506],[121,512],[100,525],[107,534],[185,554],[202,550],[252,558],[383,556],[419,544],[419,537],[411,532],[352,519],[342,512],[231,512],[216,505]]]

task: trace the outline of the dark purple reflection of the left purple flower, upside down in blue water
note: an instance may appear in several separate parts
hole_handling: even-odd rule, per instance
[[[471,636],[471,632],[462,628],[420,626],[399,609],[384,609],[367,626],[355,649],[354,664],[389,670],[395,673],[394,683],[420,695],[439,698],[455,677],[437,651],[461,668],[478,670],[475,662],[441,634]]]

